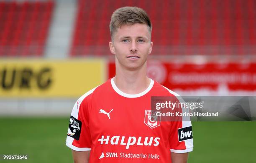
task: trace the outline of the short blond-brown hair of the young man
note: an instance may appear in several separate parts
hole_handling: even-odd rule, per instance
[[[138,7],[123,7],[114,11],[110,20],[110,35],[113,40],[115,31],[122,25],[133,25],[135,23],[146,24],[151,33],[152,24],[145,10]]]

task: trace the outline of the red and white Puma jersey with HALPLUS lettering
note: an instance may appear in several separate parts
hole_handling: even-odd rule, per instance
[[[66,145],[90,150],[90,163],[171,163],[171,152],[192,151],[191,122],[151,122],[151,96],[178,95],[154,80],[131,95],[109,79],[75,103]],[[189,133],[186,138],[184,132]]]

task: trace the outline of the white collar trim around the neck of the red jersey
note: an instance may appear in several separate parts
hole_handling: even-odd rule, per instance
[[[141,96],[145,95],[146,93],[148,93],[149,90],[151,90],[151,88],[154,85],[154,80],[149,78],[150,79],[150,84],[149,84],[149,86],[148,86],[148,88],[146,90],[144,90],[143,92],[138,93],[138,94],[128,94],[128,93],[124,93],[120,89],[118,89],[118,87],[115,85],[114,78],[111,79],[111,85],[112,85],[113,89],[115,90],[116,93],[118,93],[119,95],[121,95],[123,97],[126,97],[126,98],[138,98],[138,97],[141,97]]]

